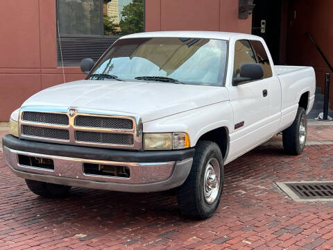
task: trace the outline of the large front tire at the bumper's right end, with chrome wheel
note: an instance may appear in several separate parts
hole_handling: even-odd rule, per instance
[[[212,169],[214,169],[217,179],[214,176],[212,177]],[[219,171],[216,169],[219,169]],[[207,176],[210,178],[207,178]],[[220,203],[223,178],[223,156],[219,146],[215,142],[199,141],[189,176],[177,190],[180,213],[185,217],[197,219],[211,217]],[[208,184],[208,179],[210,179],[211,185]],[[214,185],[217,185],[217,190]],[[214,191],[208,197],[210,188]]]

